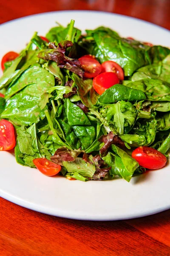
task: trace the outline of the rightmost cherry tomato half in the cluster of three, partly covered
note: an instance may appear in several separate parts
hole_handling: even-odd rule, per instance
[[[114,61],[105,61],[102,63],[102,73],[103,72],[114,72],[119,77],[120,80],[124,80],[124,73],[122,67],[119,66]]]

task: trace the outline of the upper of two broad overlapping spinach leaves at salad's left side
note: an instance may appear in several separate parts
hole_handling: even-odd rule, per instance
[[[8,88],[6,99],[9,99],[15,93],[23,88],[23,93],[28,93],[32,96],[41,96],[46,90],[53,87],[55,84],[54,76],[42,67],[33,66],[28,68],[17,81]]]

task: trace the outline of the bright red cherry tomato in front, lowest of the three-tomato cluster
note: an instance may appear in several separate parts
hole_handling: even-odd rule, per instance
[[[100,95],[115,84],[119,84],[119,78],[113,72],[101,73],[93,79],[94,90]]]

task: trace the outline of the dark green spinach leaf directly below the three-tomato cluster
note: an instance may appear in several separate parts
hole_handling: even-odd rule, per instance
[[[99,97],[99,103],[110,104],[119,100],[128,100],[133,102],[146,99],[146,96],[142,90],[138,90],[138,88],[135,88],[135,86],[130,86],[131,84],[132,83],[127,84],[126,86],[122,84],[113,85]]]

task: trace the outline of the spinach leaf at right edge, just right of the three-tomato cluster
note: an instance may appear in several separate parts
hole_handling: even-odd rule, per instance
[[[126,87],[141,90],[150,101],[170,101],[170,84],[159,79],[142,79],[126,84]]]

